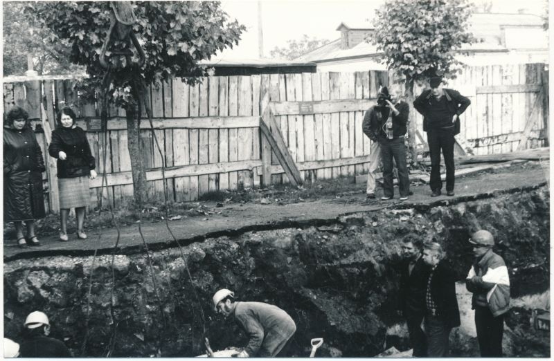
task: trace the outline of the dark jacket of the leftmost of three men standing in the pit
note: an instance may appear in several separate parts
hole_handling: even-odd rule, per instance
[[[408,272],[408,259],[404,260],[401,266],[400,302],[404,317],[425,315],[425,292],[429,279],[429,266],[422,257],[415,262],[411,275]]]

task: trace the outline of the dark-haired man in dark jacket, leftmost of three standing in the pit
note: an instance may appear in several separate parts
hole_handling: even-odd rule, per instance
[[[414,357],[427,356],[427,337],[421,329],[421,322],[425,316],[425,290],[429,279],[429,266],[423,261],[421,249],[421,239],[408,236],[402,240],[404,261],[400,275],[400,302]]]

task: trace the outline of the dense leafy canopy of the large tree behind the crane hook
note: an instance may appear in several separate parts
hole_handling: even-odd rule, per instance
[[[132,31],[145,53],[145,64],[140,76],[145,84],[159,84],[172,75],[200,75],[205,66],[197,62],[210,59],[217,50],[238,44],[246,28],[238,21],[228,21],[219,1],[135,1],[132,3],[136,22]],[[53,30],[55,37],[71,44],[71,61],[87,68],[90,79],[96,83],[105,69],[100,66],[102,44],[106,41],[111,8],[108,1],[37,1],[28,3],[26,11]],[[136,49],[129,42],[113,41],[110,50],[130,48],[133,60],[138,60]],[[109,53],[107,53],[109,55]],[[111,62],[119,57],[112,57]],[[115,59],[115,60],[114,60]],[[121,59],[124,60],[123,57]],[[119,59],[119,61],[121,61]],[[191,83],[195,82],[192,78]],[[125,71],[116,74],[114,89],[118,95],[128,95],[125,89]]]

